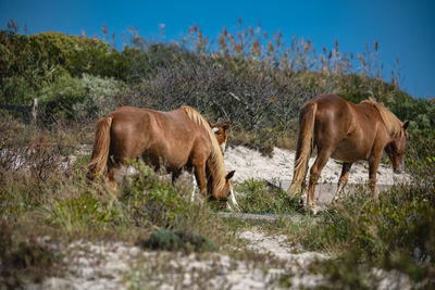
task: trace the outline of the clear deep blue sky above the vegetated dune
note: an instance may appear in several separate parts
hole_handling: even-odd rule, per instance
[[[134,27],[140,36],[179,39],[198,24],[206,36],[216,38],[223,26],[261,26],[272,34],[281,29],[287,42],[296,35],[310,38],[318,51],[334,47],[363,52],[365,43],[380,41],[384,75],[389,79],[396,58],[400,60],[401,88],[413,97],[435,97],[435,1],[63,1],[0,0],[0,29],[9,18],[26,24],[29,34],[47,30],[88,36]]]

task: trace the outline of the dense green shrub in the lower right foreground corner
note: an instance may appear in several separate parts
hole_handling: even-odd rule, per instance
[[[378,201],[350,196],[324,213],[302,243],[309,249],[339,251],[336,261],[321,263],[322,272],[339,282],[361,282],[352,276],[356,268],[366,273],[376,266],[433,285],[434,229],[434,192],[400,186],[383,192]]]

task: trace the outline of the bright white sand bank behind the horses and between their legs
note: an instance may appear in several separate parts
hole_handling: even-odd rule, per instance
[[[309,166],[314,163],[315,156],[310,159]],[[263,156],[259,151],[246,147],[228,148],[225,152],[225,168],[227,172],[236,171],[233,179],[241,182],[247,179],[266,180],[276,187],[287,190],[291,184],[295,151],[274,148],[273,156]],[[330,159],[322,171],[315,187],[315,203],[318,210],[330,204],[336,190],[341,163]],[[376,193],[388,189],[395,184],[408,184],[408,174],[394,174],[389,164],[380,164],[377,169]],[[369,179],[369,164],[366,161],[356,162],[349,175],[349,181],[344,192],[350,192],[356,186],[366,185]],[[237,196],[237,192],[236,192]]]

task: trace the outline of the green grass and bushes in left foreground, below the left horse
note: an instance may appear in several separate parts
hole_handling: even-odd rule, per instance
[[[17,287],[62,272],[58,253],[29,237],[49,236],[61,244],[79,239],[124,241],[184,252],[234,244],[236,227],[216,217],[208,202],[190,202],[190,188],[184,182],[174,186],[149,167],[135,166],[139,174],[124,178],[117,192],[99,181],[88,184],[80,167],[48,175],[47,180],[3,175],[0,250],[7,251],[0,254],[0,279],[9,277],[10,286]],[[163,234],[169,243],[162,242]]]

